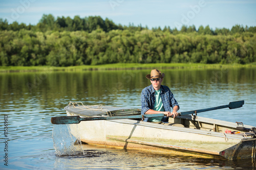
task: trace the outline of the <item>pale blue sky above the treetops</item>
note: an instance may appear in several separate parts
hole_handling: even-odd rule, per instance
[[[255,0],[2,0],[0,18],[9,23],[17,21],[27,25],[38,23],[43,14],[58,16],[79,15],[108,17],[116,24],[142,25],[148,28],[182,25],[228,28],[234,25],[256,26]]]

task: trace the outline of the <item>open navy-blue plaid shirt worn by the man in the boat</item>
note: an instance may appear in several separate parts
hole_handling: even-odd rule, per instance
[[[164,111],[171,111],[171,107],[174,108],[174,106],[179,106],[177,101],[174,99],[174,95],[172,91],[170,91],[169,87],[161,85],[160,87],[161,92],[160,96],[162,99]],[[149,109],[154,109],[156,101],[156,94],[155,89],[153,85],[145,87],[141,91],[141,114],[145,114],[145,112]],[[147,122],[148,118],[145,118],[145,122]],[[162,122],[168,122],[168,119],[166,116],[162,119]]]

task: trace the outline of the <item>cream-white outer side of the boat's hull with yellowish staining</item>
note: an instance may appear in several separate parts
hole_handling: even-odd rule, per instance
[[[68,116],[75,114],[69,113]],[[70,125],[83,142],[153,152],[183,152],[226,159],[255,158],[255,138],[161,125],[133,119],[92,120]]]

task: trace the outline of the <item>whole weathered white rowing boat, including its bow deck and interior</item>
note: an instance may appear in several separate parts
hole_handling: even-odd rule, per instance
[[[68,116],[80,117],[140,115],[140,109],[76,103],[69,104],[65,110]],[[143,122],[138,118],[89,120],[71,124],[70,128],[82,142],[106,147],[169,154],[182,152],[226,159],[256,158],[254,127],[197,115],[169,117],[168,124]]]

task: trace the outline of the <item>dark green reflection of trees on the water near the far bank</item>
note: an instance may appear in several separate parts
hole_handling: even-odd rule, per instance
[[[189,98],[190,95],[207,95],[216,89],[240,91],[243,86],[243,89],[250,88],[247,86],[253,85],[253,81],[256,80],[256,69],[253,68],[161,71],[165,73],[163,85],[169,86],[176,98],[180,97],[180,93],[186,94],[186,98]],[[32,95],[36,100],[42,99],[40,102],[45,102],[47,106],[56,104],[55,99],[57,101],[79,99],[94,101],[94,104],[99,102],[109,104],[111,101],[122,99],[122,96],[129,96],[130,100],[137,100],[140,105],[141,90],[151,84],[145,78],[149,72],[150,70],[104,70],[0,74],[0,98],[22,98],[23,102],[26,102],[26,99]],[[184,89],[189,91],[181,91]],[[6,93],[9,95],[5,95]],[[68,103],[65,102],[58,104]]]

